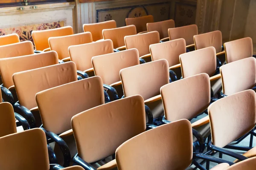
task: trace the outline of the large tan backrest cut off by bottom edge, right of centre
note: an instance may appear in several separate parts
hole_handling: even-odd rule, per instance
[[[119,170],[185,170],[192,162],[192,127],[182,119],[141,133],[116,150]]]

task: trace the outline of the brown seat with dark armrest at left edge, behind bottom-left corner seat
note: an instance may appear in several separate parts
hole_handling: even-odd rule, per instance
[[[12,105],[8,102],[0,102],[0,137],[17,133],[17,127],[15,119],[19,121],[19,124],[23,126],[23,130],[30,129],[29,123],[23,116],[14,113]],[[1,167],[1,166],[0,166]]]

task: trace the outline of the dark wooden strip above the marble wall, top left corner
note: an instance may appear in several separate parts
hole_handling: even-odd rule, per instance
[[[7,6],[26,6],[26,5],[37,5],[45,3],[63,3],[73,2],[75,0],[1,0],[0,7]]]

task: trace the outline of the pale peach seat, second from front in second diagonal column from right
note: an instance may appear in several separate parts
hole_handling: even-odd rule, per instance
[[[211,96],[218,93],[221,88],[221,74],[219,74],[220,63],[217,64],[214,47],[207,47],[180,54],[180,65],[183,78],[200,73],[207,73],[211,81]]]

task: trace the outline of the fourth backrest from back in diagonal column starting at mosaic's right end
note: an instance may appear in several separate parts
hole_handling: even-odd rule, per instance
[[[111,85],[120,81],[120,70],[139,65],[139,51],[135,48],[111,54],[93,57],[93,69],[96,76],[102,78],[103,83]]]

